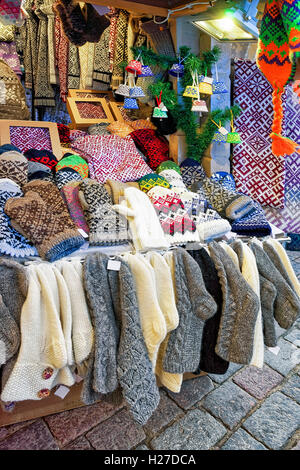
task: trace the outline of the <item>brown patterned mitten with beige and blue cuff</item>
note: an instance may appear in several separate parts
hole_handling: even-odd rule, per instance
[[[70,224],[66,226],[64,218],[54,215],[39,194],[33,191],[28,191],[23,198],[9,199],[5,213],[21,227],[39,255],[47,261],[67,256],[84,244],[78,230],[71,228]]]

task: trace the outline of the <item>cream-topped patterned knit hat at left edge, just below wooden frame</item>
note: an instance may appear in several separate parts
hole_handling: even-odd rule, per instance
[[[0,178],[9,178],[19,185],[28,181],[28,161],[22,153],[10,150],[0,155]]]

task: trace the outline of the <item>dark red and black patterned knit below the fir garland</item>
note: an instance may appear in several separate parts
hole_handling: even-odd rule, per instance
[[[130,134],[136,146],[147,158],[150,168],[155,171],[162,163],[169,160],[169,144],[152,129],[139,129]]]

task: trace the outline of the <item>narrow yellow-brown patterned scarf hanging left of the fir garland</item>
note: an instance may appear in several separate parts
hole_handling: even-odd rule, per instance
[[[129,13],[125,10],[120,10],[117,24],[116,50],[114,56],[114,68],[111,83],[112,89],[118,88],[118,86],[123,82],[123,70],[120,67],[120,64],[122,62],[128,61],[128,21]]]

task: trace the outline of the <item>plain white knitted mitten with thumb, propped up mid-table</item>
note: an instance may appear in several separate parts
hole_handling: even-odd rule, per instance
[[[142,191],[126,188],[124,200],[114,205],[114,210],[127,218],[136,250],[169,248],[170,243],[164,236],[156,211]]]

